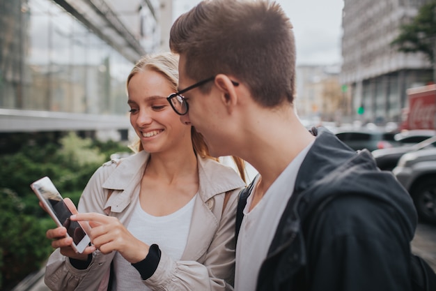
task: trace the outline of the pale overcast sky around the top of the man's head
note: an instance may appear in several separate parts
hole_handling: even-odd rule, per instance
[[[276,0],[293,24],[297,65],[341,64],[344,0]],[[177,10],[189,10],[197,0],[176,0]],[[185,12],[185,11],[183,11]]]

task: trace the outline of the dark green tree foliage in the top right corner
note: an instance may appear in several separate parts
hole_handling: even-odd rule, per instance
[[[400,27],[400,34],[391,45],[396,46],[400,52],[423,52],[431,62],[435,61],[436,0],[421,6],[412,22]]]

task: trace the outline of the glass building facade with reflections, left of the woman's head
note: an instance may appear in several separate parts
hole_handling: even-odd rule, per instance
[[[0,1],[0,108],[126,114],[132,61],[49,0]]]

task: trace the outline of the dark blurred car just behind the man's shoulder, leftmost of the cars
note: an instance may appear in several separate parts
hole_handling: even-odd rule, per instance
[[[394,133],[382,130],[338,130],[336,137],[354,150],[386,149],[393,147]]]

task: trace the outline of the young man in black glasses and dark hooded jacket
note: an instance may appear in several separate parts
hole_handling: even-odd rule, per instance
[[[181,121],[213,155],[239,156],[260,174],[238,236],[235,290],[410,290],[412,200],[368,151],[301,124],[281,7],[203,1],[173,24],[170,47],[181,91],[168,99]],[[316,211],[326,197],[335,199]]]

